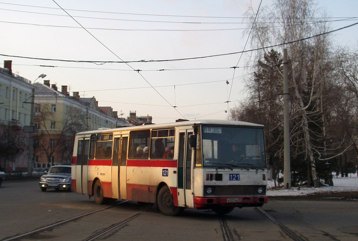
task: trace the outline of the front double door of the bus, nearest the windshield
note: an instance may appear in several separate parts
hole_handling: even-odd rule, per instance
[[[192,192],[192,148],[190,137],[193,130],[179,130],[179,153],[178,153],[178,205],[193,207]]]

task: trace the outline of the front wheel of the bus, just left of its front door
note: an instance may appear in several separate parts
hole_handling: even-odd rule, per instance
[[[168,186],[160,188],[156,201],[159,211],[165,215],[175,216],[183,210],[181,207],[174,206],[173,195]]]

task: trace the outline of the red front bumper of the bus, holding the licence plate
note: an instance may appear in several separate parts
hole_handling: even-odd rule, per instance
[[[240,197],[194,197],[194,208],[211,205],[234,207],[260,207],[267,203],[266,196],[240,196]]]

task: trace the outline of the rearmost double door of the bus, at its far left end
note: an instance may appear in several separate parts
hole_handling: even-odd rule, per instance
[[[87,164],[88,164],[89,138],[79,138],[76,162],[76,189],[82,194],[88,194],[87,190]]]

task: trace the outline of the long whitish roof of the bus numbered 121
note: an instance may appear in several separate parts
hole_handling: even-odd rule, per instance
[[[208,125],[223,125],[223,126],[250,126],[250,127],[263,127],[261,124],[255,124],[250,122],[243,121],[226,121],[226,120],[195,120],[195,121],[180,121],[180,122],[172,122],[172,123],[163,123],[163,124],[147,124],[142,126],[131,126],[131,127],[118,127],[118,128],[103,128],[93,131],[83,131],[77,134],[90,134],[90,133],[98,133],[105,131],[126,131],[133,129],[147,129],[147,128],[160,128],[160,127],[174,127],[174,126],[187,126],[194,124],[208,124]]]

